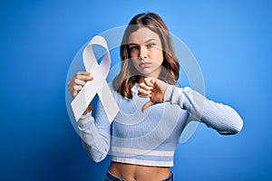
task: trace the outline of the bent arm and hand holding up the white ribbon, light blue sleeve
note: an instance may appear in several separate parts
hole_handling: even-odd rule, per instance
[[[77,72],[67,83],[71,96],[75,98],[85,83],[92,80],[93,77],[89,72]],[[100,162],[107,156],[110,149],[111,126],[100,101],[97,103],[95,120],[91,115],[90,109],[85,110],[82,118],[78,121],[78,128],[83,139],[83,147],[88,155],[93,161]]]

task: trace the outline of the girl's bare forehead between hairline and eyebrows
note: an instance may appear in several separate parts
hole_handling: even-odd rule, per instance
[[[128,43],[146,43],[151,39],[160,42],[160,36],[157,33],[154,33],[149,28],[141,27],[137,31],[131,33]]]

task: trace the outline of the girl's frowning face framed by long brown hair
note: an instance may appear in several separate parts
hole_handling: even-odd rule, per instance
[[[143,76],[159,78],[163,62],[160,36],[142,27],[131,33],[128,44],[135,69]]]

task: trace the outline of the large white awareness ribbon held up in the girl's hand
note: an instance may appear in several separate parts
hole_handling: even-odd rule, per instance
[[[94,53],[92,51],[92,44],[101,45],[106,49],[102,62],[98,64]],[[99,99],[102,101],[102,106],[107,114],[107,117],[112,124],[119,111],[119,107],[112,96],[110,87],[106,81],[107,75],[111,68],[111,56],[106,40],[102,36],[94,36],[83,50],[83,63],[86,71],[92,73],[93,80],[87,81],[83,89],[71,102],[73,115],[78,121],[83,115],[97,93]]]

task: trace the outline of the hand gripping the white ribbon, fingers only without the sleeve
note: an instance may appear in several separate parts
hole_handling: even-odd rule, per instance
[[[70,94],[73,98],[76,97],[78,92],[83,89],[83,86],[87,81],[92,81],[93,77],[90,76],[90,73],[87,71],[77,72],[73,78],[67,83]]]

